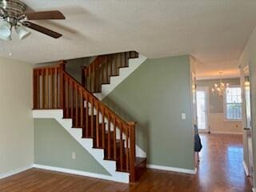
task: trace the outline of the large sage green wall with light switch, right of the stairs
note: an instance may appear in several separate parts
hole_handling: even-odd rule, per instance
[[[138,122],[136,142],[148,163],[194,169],[190,83],[190,56],[147,59],[103,100]]]

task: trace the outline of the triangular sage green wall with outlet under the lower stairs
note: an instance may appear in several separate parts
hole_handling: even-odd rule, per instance
[[[34,163],[110,175],[54,119],[34,119]]]

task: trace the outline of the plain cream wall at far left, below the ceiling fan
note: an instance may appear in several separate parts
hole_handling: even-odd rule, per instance
[[[32,65],[0,58],[0,178],[33,165]]]

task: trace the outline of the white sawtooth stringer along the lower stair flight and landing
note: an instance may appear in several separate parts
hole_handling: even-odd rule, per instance
[[[81,128],[72,128],[72,119],[63,118],[63,110],[33,110],[33,118],[54,118],[63,128],[102,165],[110,176],[105,179],[115,182],[130,182],[130,174],[116,171],[116,162],[104,160],[104,150],[93,148],[92,138],[82,138]]]

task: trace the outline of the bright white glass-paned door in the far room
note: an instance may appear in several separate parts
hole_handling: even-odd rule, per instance
[[[200,133],[208,133],[208,87],[198,87],[196,91],[197,98],[197,115],[198,115],[198,131]]]

